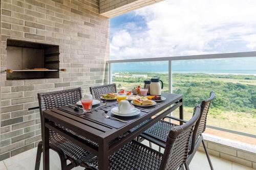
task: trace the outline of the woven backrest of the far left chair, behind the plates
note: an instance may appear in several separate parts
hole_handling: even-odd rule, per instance
[[[102,86],[93,86],[90,87],[91,94],[94,99],[100,98],[102,94],[106,93],[116,93],[116,84],[108,84]]]

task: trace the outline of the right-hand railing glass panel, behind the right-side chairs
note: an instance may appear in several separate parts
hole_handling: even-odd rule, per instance
[[[207,125],[256,135],[256,57],[177,60],[172,71],[173,93],[184,95],[185,119],[212,90]]]

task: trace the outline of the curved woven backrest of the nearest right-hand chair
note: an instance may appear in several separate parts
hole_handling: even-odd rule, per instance
[[[188,156],[188,145],[194,125],[196,124],[201,112],[200,105],[194,109],[193,117],[181,126],[177,126],[170,130],[160,170],[176,170],[185,163]]]

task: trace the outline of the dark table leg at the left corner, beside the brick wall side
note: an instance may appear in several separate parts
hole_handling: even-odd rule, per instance
[[[44,158],[44,170],[50,169],[50,162],[49,162],[49,129],[45,126],[47,119],[45,117],[42,118],[42,152]]]

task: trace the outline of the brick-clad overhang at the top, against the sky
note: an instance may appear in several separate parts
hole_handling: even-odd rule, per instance
[[[162,0],[99,0],[99,12],[106,17],[114,17],[123,13],[133,11],[148,5],[158,3]]]

